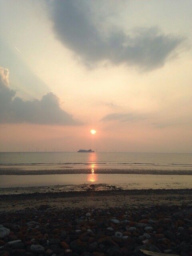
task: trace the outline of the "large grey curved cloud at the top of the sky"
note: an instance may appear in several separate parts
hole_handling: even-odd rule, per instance
[[[107,60],[153,70],[163,66],[183,41],[157,27],[136,28],[130,34],[114,27],[106,33],[96,26],[87,1],[52,1],[51,10],[56,37],[90,65]]]

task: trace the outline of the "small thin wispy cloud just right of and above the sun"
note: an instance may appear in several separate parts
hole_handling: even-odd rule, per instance
[[[120,122],[134,122],[146,119],[144,114],[134,114],[134,113],[113,113],[104,116],[100,121],[120,121]]]

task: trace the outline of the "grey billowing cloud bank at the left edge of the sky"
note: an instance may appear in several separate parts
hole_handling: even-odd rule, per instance
[[[0,123],[82,124],[60,108],[59,98],[52,92],[32,101],[15,95],[9,87],[8,69],[0,67]]]

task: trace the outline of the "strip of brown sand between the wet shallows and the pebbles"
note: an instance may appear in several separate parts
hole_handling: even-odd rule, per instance
[[[192,204],[192,189],[48,192],[0,195],[1,212],[38,208],[113,208]]]

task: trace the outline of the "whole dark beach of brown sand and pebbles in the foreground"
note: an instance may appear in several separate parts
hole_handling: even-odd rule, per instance
[[[191,202],[189,189],[1,195],[0,255],[191,256]]]

